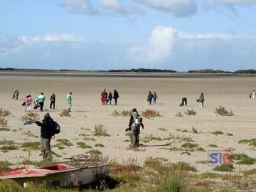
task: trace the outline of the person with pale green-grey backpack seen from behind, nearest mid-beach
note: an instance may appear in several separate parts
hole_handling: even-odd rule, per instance
[[[134,148],[139,147],[140,127],[142,126],[142,129],[144,129],[142,120],[143,119],[137,112],[137,109],[132,109],[132,115],[129,120],[129,129],[132,132],[132,147]]]

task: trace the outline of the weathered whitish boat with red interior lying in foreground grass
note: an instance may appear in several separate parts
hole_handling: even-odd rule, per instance
[[[0,176],[0,179],[13,179],[25,187],[30,182],[48,187],[82,186],[105,178],[110,169],[109,164],[73,167],[66,164],[38,168],[18,169]]]

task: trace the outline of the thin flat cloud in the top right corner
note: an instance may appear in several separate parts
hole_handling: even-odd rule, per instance
[[[256,4],[256,0],[205,0],[204,5],[208,8],[213,8],[215,6],[249,6]]]

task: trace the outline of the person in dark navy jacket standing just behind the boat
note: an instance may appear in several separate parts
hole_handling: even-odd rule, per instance
[[[46,113],[43,120],[36,121],[36,124],[41,127],[41,141],[40,147],[43,154],[43,159],[50,161],[51,151],[50,151],[50,139],[53,137],[53,129],[55,122],[50,117],[49,113]]]

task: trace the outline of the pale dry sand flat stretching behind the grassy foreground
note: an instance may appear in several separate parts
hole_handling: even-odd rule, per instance
[[[45,107],[49,108],[50,95],[56,95],[56,110],[50,111],[51,117],[61,126],[60,134],[55,136],[51,142],[56,144],[56,139],[69,139],[73,146],[65,146],[65,149],[53,147],[53,151],[63,158],[78,154],[85,154],[90,149],[80,149],[77,142],[85,142],[92,149],[102,151],[103,156],[117,159],[122,162],[129,157],[137,157],[139,163],[143,164],[146,157],[161,157],[168,159],[171,163],[186,161],[198,169],[198,171],[210,171],[213,167],[207,164],[199,164],[197,161],[208,159],[208,150],[234,149],[234,153],[245,153],[256,158],[255,149],[248,144],[238,144],[240,139],[256,138],[256,100],[250,100],[249,94],[256,89],[256,78],[252,77],[228,77],[228,78],[100,78],[100,77],[37,77],[0,75],[0,108],[9,110],[13,115],[7,117],[8,127],[11,131],[1,131],[0,140],[14,140],[16,143],[38,142],[39,138],[28,137],[26,132],[40,136],[40,128],[33,125],[23,126],[21,116],[26,114],[21,103],[26,95],[31,94],[36,99],[40,92],[46,96]],[[100,93],[103,89],[119,92],[118,105],[102,106]],[[18,89],[20,95],[18,100],[12,100],[14,90]],[[156,105],[146,102],[147,94],[156,92],[159,99]],[[67,107],[66,96],[73,92],[73,107],[71,117],[60,117],[60,112]],[[205,95],[205,107],[200,108],[196,99],[201,92]],[[179,107],[182,97],[188,98],[188,107]],[[113,102],[113,101],[112,101]],[[216,107],[225,106],[233,110],[235,116],[220,117],[214,113]],[[129,123],[129,117],[114,117],[112,112],[132,110],[136,107],[139,112],[147,109],[160,112],[163,117],[144,118],[145,129],[142,129],[140,138],[152,135],[164,139],[169,133],[175,137],[191,137],[194,143],[206,151],[194,151],[191,155],[181,154],[181,151],[170,151],[170,147],[179,148],[184,142],[178,139],[141,142],[146,146],[139,147],[139,151],[128,149],[129,139],[124,129]],[[193,109],[197,112],[195,116],[176,117],[177,112],[185,112]],[[38,111],[37,111],[38,112]],[[38,112],[43,117],[45,112]],[[102,124],[108,130],[110,137],[94,137],[95,125]],[[181,132],[177,129],[192,127],[198,130],[198,134],[192,132]],[[166,129],[164,131],[163,129]],[[90,129],[90,130],[87,130]],[[16,132],[15,132],[16,130]],[[225,134],[215,136],[211,134],[221,131]],[[227,133],[233,134],[228,136]],[[79,134],[90,134],[90,138],[96,141],[84,141]],[[95,147],[95,144],[104,144],[105,147]],[[171,144],[171,146],[165,146]],[[218,148],[210,148],[208,144],[216,144]],[[22,151],[22,149],[4,153],[0,151],[0,161],[8,160],[18,164],[23,159],[31,161],[41,160],[40,150]],[[239,166],[235,165],[238,169]],[[255,165],[241,166],[242,169],[253,169]]]

